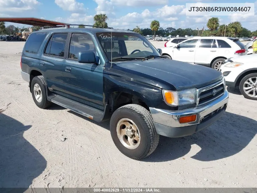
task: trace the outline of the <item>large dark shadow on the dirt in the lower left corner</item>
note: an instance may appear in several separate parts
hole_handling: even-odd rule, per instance
[[[0,188],[28,188],[46,168],[47,161],[23,138],[30,127],[0,113]]]

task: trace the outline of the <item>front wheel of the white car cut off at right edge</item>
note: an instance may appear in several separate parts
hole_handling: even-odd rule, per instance
[[[244,89],[244,87],[245,88],[251,87],[249,84],[252,84],[252,83],[249,79],[251,79],[252,82],[254,83],[253,84],[253,89],[254,90],[250,91],[250,93],[247,94],[246,92],[252,89],[252,88]],[[245,84],[245,82],[248,82],[248,84]],[[248,74],[245,77],[243,77],[242,80],[240,81],[239,89],[240,89],[241,94],[245,98],[251,99],[251,100],[257,100],[257,73]],[[255,97],[253,97],[254,92],[255,92]]]

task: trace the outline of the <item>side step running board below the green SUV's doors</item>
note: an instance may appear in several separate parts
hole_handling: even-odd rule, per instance
[[[51,98],[51,102],[60,105],[66,109],[70,109],[75,113],[81,114],[97,122],[101,122],[105,114],[105,111],[100,111],[88,105],[84,105],[80,102],[76,102],[69,98],[62,97],[60,95],[56,95],[55,97]]]

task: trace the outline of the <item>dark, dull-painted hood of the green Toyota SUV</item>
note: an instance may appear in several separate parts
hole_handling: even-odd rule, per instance
[[[222,79],[222,73],[217,70],[170,59],[126,61],[116,65],[165,81],[177,90],[202,88]]]

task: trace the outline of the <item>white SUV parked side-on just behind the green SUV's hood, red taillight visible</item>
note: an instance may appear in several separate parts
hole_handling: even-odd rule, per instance
[[[237,38],[195,37],[173,47],[161,48],[162,55],[182,62],[209,66],[219,70],[224,60],[246,55],[247,49]]]

